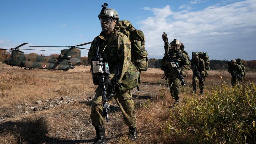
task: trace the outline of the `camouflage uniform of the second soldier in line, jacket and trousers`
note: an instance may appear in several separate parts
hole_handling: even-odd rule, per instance
[[[183,53],[182,50],[173,51],[172,49],[169,49],[168,53],[169,55],[174,55],[173,58],[178,59],[179,66],[183,67],[183,68],[180,68],[179,70],[182,72],[183,76],[186,76],[190,66],[186,54]],[[168,77],[170,92],[174,100],[177,101],[180,98],[179,88],[180,88],[181,82],[177,77],[177,73],[175,72],[175,70],[172,68],[170,64],[168,55],[165,54],[165,56],[161,60],[161,64],[162,66],[168,67],[170,70],[169,77]]]

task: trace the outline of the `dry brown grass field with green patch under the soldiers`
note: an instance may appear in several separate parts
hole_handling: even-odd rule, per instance
[[[96,86],[88,66],[69,71],[23,70],[0,65],[0,143],[93,143],[90,103]],[[160,69],[141,75],[133,90],[139,139],[136,143],[255,143],[256,73],[231,87],[227,71],[210,71],[205,95],[192,94],[192,72],[173,99]],[[106,124],[109,143],[132,143],[116,104]]]

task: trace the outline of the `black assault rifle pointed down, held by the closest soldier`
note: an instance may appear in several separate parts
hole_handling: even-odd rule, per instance
[[[110,95],[107,92],[107,87],[104,84],[105,78],[106,81],[109,81],[109,66],[107,62],[103,61],[103,58],[99,52],[98,41],[95,39],[94,45],[96,47],[97,55],[95,57],[96,61],[92,61],[93,70],[92,73],[98,75],[99,77],[99,87],[101,90],[102,96],[102,107],[103,107],[103,116],[105,116],[106,121],[108,122],[108,113],[109,113],[109,105],[108,100],[110,99]]]

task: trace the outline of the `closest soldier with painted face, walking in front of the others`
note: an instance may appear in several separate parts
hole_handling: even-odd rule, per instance
[[[95,40],[98,41],[99,52],[105,62],[108,62],[110,74],[109,79],[115,85],[115,96],[118,106],[124,117],[126,125],[129,127],[129,138],[137,139],[135,103],[133,102],[131,90],[123,90],[118,85],[138,72],[138,68],[131,63],[131,42],[123,33],[118,32],[114,27],[119,22],[119,15],[116,10],[111,8],[104,9],[105,4],[99,14],[102,32],[97,36],[88,52],[88,63],[91,64],[95,60],[96,46]],[[139,75],[139,72],[138,72]],[[138,77],[138,76],[137,76]],[[94,77],[93,77],[94,78]],[[132,84],[132,83],[130,83]],[[96,140],[94,144],[105,144],[107,142],[105,136],[105,119],[102,116],[102,97],[101,89],[95,90],[95,98],[92,103],[91,119],[92,125],[96,130]],[[109,105],[111,101],[109,101]]]

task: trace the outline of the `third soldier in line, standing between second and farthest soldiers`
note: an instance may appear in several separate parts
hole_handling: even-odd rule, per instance
[[[197,82],[197,79],[199,79],[200,94],[203,94],[204,93],[203,77],[205,76],[205,65],[204,65],[204,60],[199,58],[198,52],[192,52],[191,66],[193,71],[193,78],[192,78],[193,90],[191,92],[196,93],[196,82]]]

